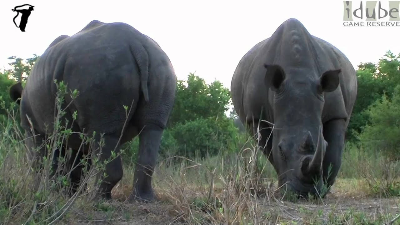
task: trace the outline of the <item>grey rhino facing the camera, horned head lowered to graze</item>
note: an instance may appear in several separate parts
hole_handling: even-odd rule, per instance
[[[279,186],[287,182],[298,197],[320,194],[323,183],[330,189],[357,95],[356,72],[340,50],[288,19],[243,56],[231,93],[252,134],[259,124],[259,145]],[[272,134],[261,120],[274,124]]]

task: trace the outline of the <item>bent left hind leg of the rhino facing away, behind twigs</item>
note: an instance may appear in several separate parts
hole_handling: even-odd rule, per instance
[[[102,171],[98,174],[96,179],[96,184],[98,179],[101,179],[101,183],[98,189],[97,195],[106,200],[111,200],[111,190],[112,188],[122,179],[123,170],[122,170],[122,161],[120,156],[120,145],[118,143],[118,135],[106,134],[103,137],[102,146],[99,145],[100,138],[96,138],[96,143],[94,143],[94,157],[97,157],[97,153],[100,150],[100,165],[103,166],[105,164],[105,171]],[[114,154],[112,153],[114,152]],[[115,157],[112,157],[115,155]],[[110,159],[112,159],[110,161]],[[96,165],[97,166],[97,165]],[[80,177],[81,170],[75,171],[78,173]],[[103,176],[103,173],[106,173],[106,177]],[[76,179],[77,181],[77,179]]]

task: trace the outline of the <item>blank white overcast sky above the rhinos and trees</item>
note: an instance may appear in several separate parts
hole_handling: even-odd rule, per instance
[[[353,1],[354,9],[359,2]],[[35,6],[26,32],[12,22],[11,9],[22,4]],[[386,50],[400,52],[400,27],[345,27],[341,0],[2,0],[0,6],[1,68],[8,66],[7,57],[40,55],[55,38],[71,36],[92,20],[130,24],[160,44],[178,78],[195,72],[228,88],[240,58],[288,18],[338,47],[355,68]]]

